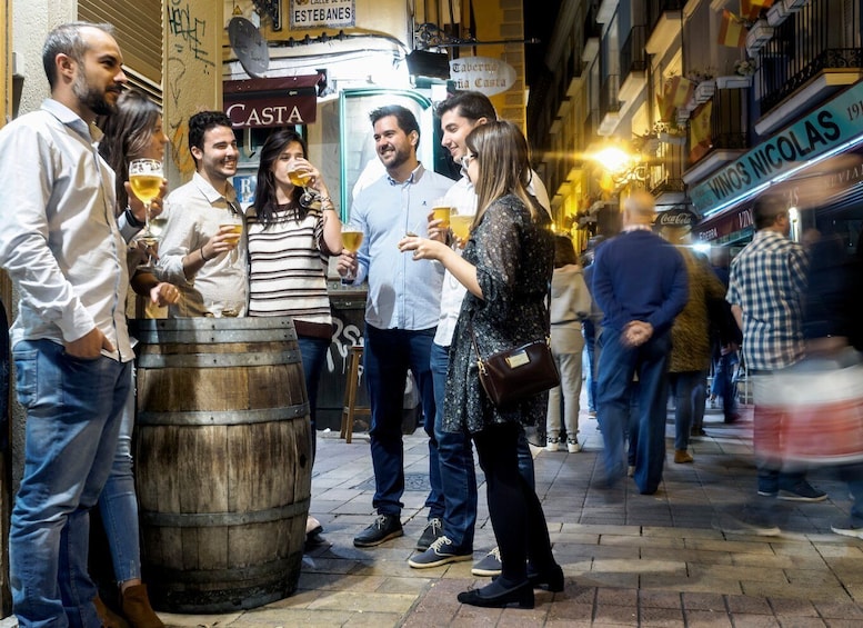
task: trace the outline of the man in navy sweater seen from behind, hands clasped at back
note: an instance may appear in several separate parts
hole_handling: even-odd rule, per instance
[[[596,250],[592,287],[604,315],[596,392],[606,479],[611,485],[624,474],[623,435],[635,395],[638,420],[629,432],[635,442],[635,485],[644,495],[656,492],[662,480],[671,326],[689,298],[683,258],[652,232],[654,215],[653,197],[645,191],[623,201],[623,229]]]

